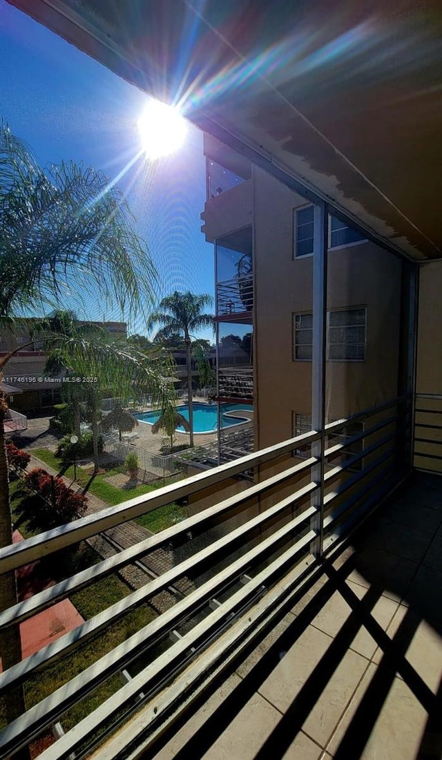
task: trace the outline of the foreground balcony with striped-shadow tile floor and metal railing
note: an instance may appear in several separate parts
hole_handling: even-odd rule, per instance
[[[124,747],[135,754],[144,748],[150,757],[181,756],[181,750],[198,757],[207,745],[216,757],[239,742],[242,758],[282,757],[290,747],[287,756],[295,758],[319,757],[321,747],[337,758],[356,757],[365,746],[368,758],[371,746],[377,752],[387,741],[387,754],[379,756],[402,760],[415,757],[427,720],[425,741],[436,741],[440,480],[415,476],[373,517],[410,473],[403,438],[410,418],[410,400],[396,400],[331,423],[322,435],[308,432],[2,549],[4,575],[172,501],[219,494],[213,506],[2,612],[3,632],[26,620],[38,625],[35,616],[75,592],[93,594],[97,581],[134,565],[139,577],[144,568],[144,582],[128,596],[6,670],[5,696],[88,641],[97,641],[100,651],[106,638],[97,637],[106,637],[115,622],[166,599],[161,614],[136,631],[129,627],[120,644],[11,723],[2,733],[2,756],[63,724],[73,705],[80,710],[76,724],[45,758],[89,757],[112,732],[105,754],[94,756],[119,757]],[[356,420],[365,422],[356,436],[363,450],[317,480],[327,459],[348,448],[348,442],[322,448],[325,434],[337,435]],[[313,454],[298,462],[292,454],[304,445]],[[364,462],[358,473],[356,461]],[[249,470],[254,483],[235,480]],[[238,483],[233,491],[232,483]],[[363,532],[352,533],[367,517]],[[160,565],[158,574],[156,563],[156,573],[146,572],[159,553],[163,570]],[[124,685],[114,679],[115,692],[101,704],[97,696],[84,712],[82,701],[122,671]],[[160,749],[156,739],[169,741],[172,718],[178,726],[182,721],[182,730],[175,724],[172,745]],[[201,720],[210,729],[204,737]],[[345,754],[350,741],[360,754]]]

